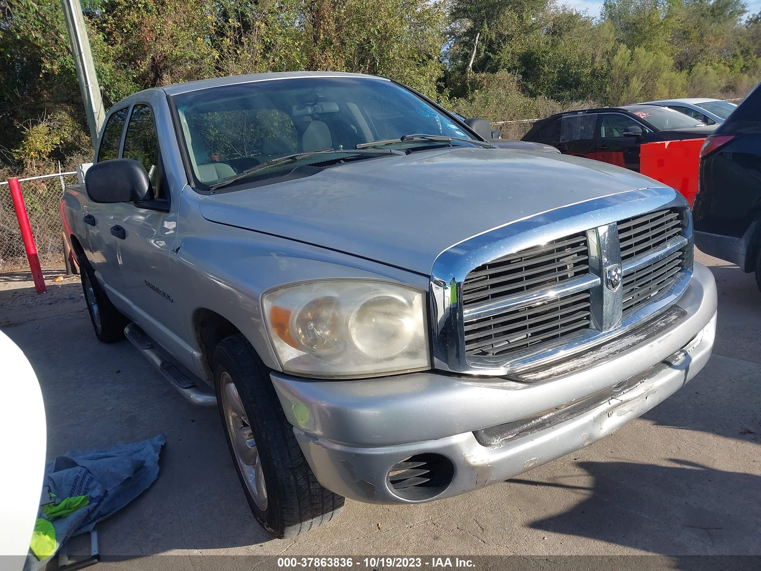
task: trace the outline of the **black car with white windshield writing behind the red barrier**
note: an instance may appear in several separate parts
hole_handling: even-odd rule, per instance
[[[679,111],[625,105],[558,113],[537,121],[522,140],[545,143],[565,155],[594,158],[639,172],[639,145],[702,139],[716,129]]]

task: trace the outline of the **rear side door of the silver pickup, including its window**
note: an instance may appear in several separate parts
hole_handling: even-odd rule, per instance
[[[100,136],[97,162],[109,161],[119,156],[127,108],[112,111]],[[88,200],[82,211],[86,244],[82,244],[95,276],[105,286],[110,300],[119,308],[119,295],[124,295],[124,282],[117,260],[116,238],[111,234],[113,216],[118,204],[100,204]],[[114,295],[114,293],[119,295]]]

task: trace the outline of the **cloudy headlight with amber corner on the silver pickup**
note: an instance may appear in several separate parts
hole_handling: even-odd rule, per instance
[[[418,290],[336,279],[285,285],[262,301],[284,372],[341,378],[430,368],[425,295]]]

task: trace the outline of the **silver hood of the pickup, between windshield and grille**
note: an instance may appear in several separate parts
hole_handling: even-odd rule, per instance
[[[200,210],[212,222],[428,276],[438,254],[473,235],[571,203],[659,186],[568,155],[446,147],[206,196]]]

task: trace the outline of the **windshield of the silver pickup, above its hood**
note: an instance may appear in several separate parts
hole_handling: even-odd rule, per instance
[[[257,165],[295,153],[334,149],[275,161],[257,176],[274,177],[306,164],[337,162],[357,145],[425,133],[473,137],[450,116],[382,78],[307,77],[252,81],[172,97],[196,182],[211,187]],[[438,147],[449,141],[400,141],[392,148]],[[478,142],[473,141],[473,146]],[[261,175],[259,174],[261,172]]]

